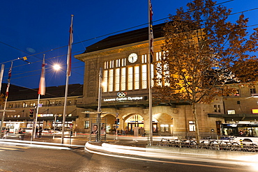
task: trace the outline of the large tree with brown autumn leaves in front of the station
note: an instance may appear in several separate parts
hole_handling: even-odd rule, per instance
[[[258,29],[248,35],[243,14],[229,22],[232,11],[212,0],[194,0],[187,6],[165,24],[154,89],[159,100],[190,102],[199,141],[196,104],[236,92],[229,83],[255,81],[257,57],[251,53],[257,52]]]

